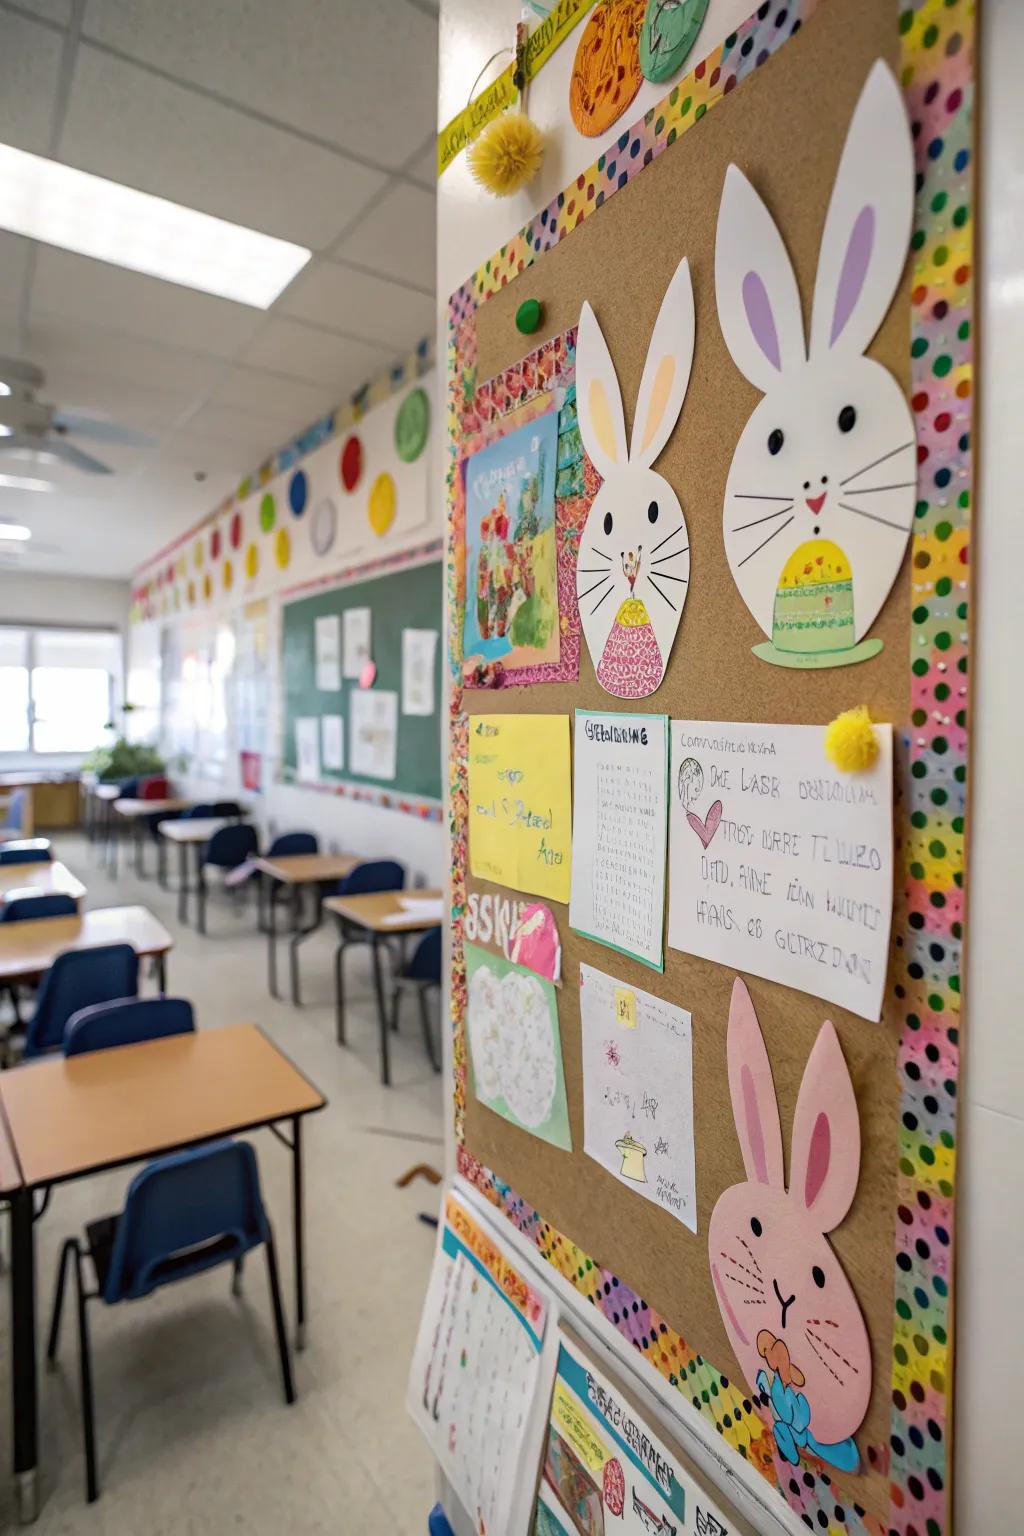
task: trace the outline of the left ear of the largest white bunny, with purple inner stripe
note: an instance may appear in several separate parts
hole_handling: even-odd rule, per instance
[[[718,323],[732,361],[766,393],[806,362],[800,290],[775,220],[738,166],[722,189],[715,237]]]

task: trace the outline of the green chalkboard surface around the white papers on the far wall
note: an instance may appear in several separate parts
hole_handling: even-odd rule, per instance
[[[441,636],[444,613],[444,588],[441,561],[421,565],[401,565],[384,570],[364,581],[341,587],[325,587],[309,598],[286,602],[281,617],[282,645],[282,770],[286,780],[298,779],[295,746],[295,722],[322,719],[325,714],[341,714],[345,734],[345,766],[341,771],[325,770],[321,760],[319,782],[365,783],[395,794],[413,794],[441,799]],[[344,633],[347,608],[368,608],[372,613],[370,654],[376,664],[375,693],[398,694],[398,753],[395,779],[370,779],[352,773],[352,716],[350,696],[359,688],[358,680],[342,677],[341,688],[325,691],[316,687],[316,619],[338,614]],[[402,630],[434,630],[434,713],[402,714]]]

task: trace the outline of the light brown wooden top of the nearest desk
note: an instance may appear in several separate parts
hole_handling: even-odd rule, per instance
[[[26,1184],[157,1157],[325,1104],[255,1025],[48,1057],[3,1074]]]

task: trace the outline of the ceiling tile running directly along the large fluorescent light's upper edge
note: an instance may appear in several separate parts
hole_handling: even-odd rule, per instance
[[[385,184],[379,170],[83,45],[68,164],[319,250]]]

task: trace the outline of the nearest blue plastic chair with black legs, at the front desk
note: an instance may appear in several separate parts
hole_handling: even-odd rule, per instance
[[[64,1243],[57,1270],[46,1355],[52,1366],[60,1342],[68,1264],[74,1261],[86,1498],[91,1504],[100,1496],[100,1487],[86,1301],[104,1301],[109,1307],[118,1301],[137,1301],[161,1286],[229,1263],[235,1266],[235,1290],[238,1290],[243,1260],[261,1244],[267,1250],[267,1278],[281,1356],[284,1401],[290,1404],[295,1402],[295,1387],[284,1332],[273,1229],[259,1193],[256,1154],[246,1141],[215,1141],[150,1163],[129,1184],[120,1217],[91,1221],[86,1226],[84,1244],[78,1238],[68,1238]],[[97,1276],[97,1290],[92,1292],[84,1286],[86,1256],[92,1260]]]

